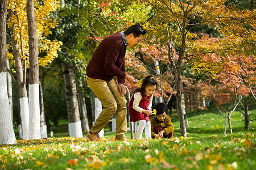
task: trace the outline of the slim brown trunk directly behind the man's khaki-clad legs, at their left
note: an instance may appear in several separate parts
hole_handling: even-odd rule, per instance
[[[81,125],[82,125],[82,131],[89,131],[89,122],[87,117],[87,110],[86,110],[86,104],[84,95],[82,95],[82,81],[78,81],[79,88],[77,91],[77,99],[79,102],[79,112],[80,112],[80,119],[81,119]]]

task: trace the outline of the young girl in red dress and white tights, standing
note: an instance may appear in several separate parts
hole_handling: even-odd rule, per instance
[[[136,139],[142,139],[143,129],[145,129],[146,138],[151,139],[150,119],[153,93],[158,83],[153,76],[148,75],[141,85],[134,91],[133,97],[129,103],[130,122],[139,122]]]

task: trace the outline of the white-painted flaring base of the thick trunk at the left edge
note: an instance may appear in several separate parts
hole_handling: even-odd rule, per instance
[[[16,143],[7,94],[6,72],[0,73],[0,145]]]

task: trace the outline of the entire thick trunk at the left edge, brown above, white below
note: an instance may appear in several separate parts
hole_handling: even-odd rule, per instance
[[[16,143],[6,82],[6,18],[7,0],[0,0],[0,145]]]

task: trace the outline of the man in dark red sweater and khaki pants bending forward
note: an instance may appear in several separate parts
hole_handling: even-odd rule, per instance
[[[86,67],[86,82],[104,105],[104,109],[86,135],[88,141],[100,141],[98,132],[108,124],[115,113],[115,140],[126,140],[125,79],[137,83],[133,76],[125,74],[126,46],[133,48],[143,39],[146,31],[139,24],[132,25],[125,32],[116,32],[98,45]],[[119,86],[114,80],[117,77]]]

